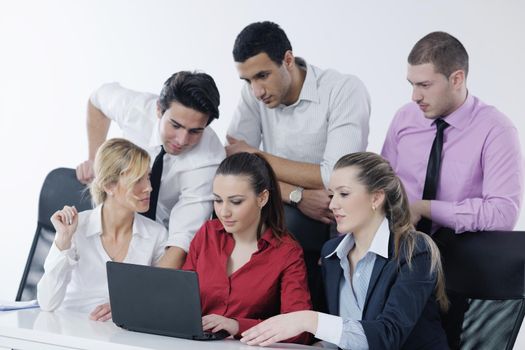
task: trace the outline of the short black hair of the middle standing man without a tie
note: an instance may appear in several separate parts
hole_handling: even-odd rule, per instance
[[[235,62],[244,62],[264,52],[280,66],[288,50],[292,50],[292,45],[279,25],[268,21],[255,22],[237,35],[233,45],[233,59]]]

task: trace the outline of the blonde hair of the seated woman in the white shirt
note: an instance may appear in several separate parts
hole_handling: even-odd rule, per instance
[[[149,163],[148,153],[128,140],[114,138],[104,142],[95,155],[95,179],[89,186],[93,203],[103,203],[107,199],[107,186],[119,180],[129,193],[133,185],[149,171]]]

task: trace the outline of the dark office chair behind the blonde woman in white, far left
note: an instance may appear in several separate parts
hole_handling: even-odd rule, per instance
[[[92,208],[89,191],[78,182],[75,170],[58,168],[46,176],[40,191],[38,223],[16,294],[17,301],[36,299],[36,286],[44,273],[44,261],[55,239],[50,218],[64,205],[74,205],[78,211]]]

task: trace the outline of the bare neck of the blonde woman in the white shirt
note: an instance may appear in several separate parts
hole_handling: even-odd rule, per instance
[[[107,199],[102,206],[102,232],[104,235],[117,238],[131,234],[135,213],[122,208],[113,200]]]

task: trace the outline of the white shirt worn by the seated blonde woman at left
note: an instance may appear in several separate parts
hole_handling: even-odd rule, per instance
[[[42,310],[58,307],[89,313],[109,302],[102,234],[102,205],[78,214],[78,227],[71,248],[60,251],[53,243],[38,283],[37,298]],[[166,228],[143,215],[135,214],[132,237],[124,262],[153,265],[164,253]]]

